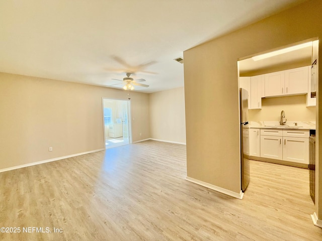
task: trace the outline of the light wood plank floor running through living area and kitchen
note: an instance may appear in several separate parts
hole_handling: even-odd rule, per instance
[[[186,181],[185,148],[145,141],[0,173],[0,227],[52,231],[0,239],[322,240],[308,170],[252,161],[239,200]]]

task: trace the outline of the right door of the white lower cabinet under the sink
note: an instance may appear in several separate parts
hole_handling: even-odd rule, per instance
[[[308,138],[283,138],[283,160],[308,164]]]

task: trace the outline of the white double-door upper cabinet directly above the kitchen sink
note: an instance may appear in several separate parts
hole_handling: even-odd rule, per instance
[[[265,97],[306,94],[308,66],[265,74]]]

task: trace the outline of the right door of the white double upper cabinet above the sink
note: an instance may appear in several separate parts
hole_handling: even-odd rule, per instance
[[[285,94],[305,94],[308,85],[308,66],[285,70]]]

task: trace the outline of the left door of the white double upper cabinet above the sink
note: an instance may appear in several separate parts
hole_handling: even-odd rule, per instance
[[[265,96],[284,94],[284,71],[265,74]]]

